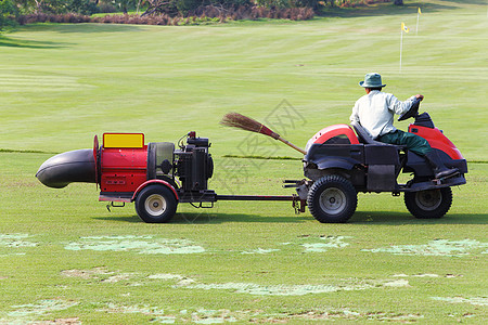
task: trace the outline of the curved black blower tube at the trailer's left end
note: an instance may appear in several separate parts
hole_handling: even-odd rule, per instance
[[[97,183],[93,150],[78,150],[55,155],[44,161],[36,173],[49,187],[62,188],[69,183]]]

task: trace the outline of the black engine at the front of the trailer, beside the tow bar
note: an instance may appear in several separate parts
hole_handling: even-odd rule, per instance
[[[210,143],[208,138],[196,138],[194,131],[187,135],[187,144],[180,140],[180,150],[175,151],[175,176],[183,191],[205,191],[214,174],[214,160],[208,153]]]

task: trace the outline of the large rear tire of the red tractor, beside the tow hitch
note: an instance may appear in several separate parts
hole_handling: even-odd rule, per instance
[[[358,206],[358,193],[352,184],[341,176],[324,176],[308,192],[310,213],[322,223],[346,222]]]

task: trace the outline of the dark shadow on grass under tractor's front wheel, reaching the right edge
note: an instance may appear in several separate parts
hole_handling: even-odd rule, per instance
[[[357,211],[349,223],[355,224],[487,224],[486,213],[448,213],[440,219],[416,219],[410,213]]]

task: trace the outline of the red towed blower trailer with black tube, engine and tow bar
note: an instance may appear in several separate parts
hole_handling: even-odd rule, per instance
[[[176,148],[171,142],[144,144],[143,133],[104,133],[102,145],[95,135],[92,150],[56,155],[42,164],[36,176],[56,188],[72,182],[97,183],[99,200],[108,202],[108,209],[134,203],[138,216],[151,223],[170,221],[180,203],[195,207],[209,203],[211,208],[219,200],[277,200],[292,202],[297,211],[305,211],[306,198],[296,194],[218,195],[208,190],[214,174],[210,143],[194,131],[183,138]]]

